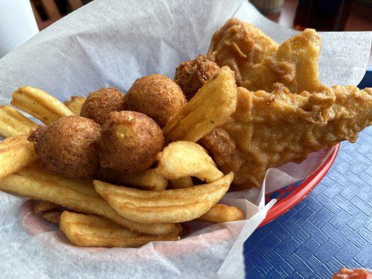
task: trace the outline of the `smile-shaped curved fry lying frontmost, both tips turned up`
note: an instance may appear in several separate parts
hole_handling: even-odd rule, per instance
[[[139,223],[179,223],[202,216],[230,187],[231,172],[209,184],[190,188],[146,191],[95,180],[94,187],[124,218]]]

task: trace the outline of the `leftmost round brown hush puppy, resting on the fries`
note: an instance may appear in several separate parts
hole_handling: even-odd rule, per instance
[[[29,135],[35,151],[47,169],[62,176],[95,174],[99,167],[101,127],[80,116],[67,116],[50,126],[39,126]]]

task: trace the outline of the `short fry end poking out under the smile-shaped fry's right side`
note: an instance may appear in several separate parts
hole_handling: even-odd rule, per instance
[[[244,213],[237,206],[228,206],[225,204],[215,204],[204,215],[195,219],[208,223],[223,223],[243,220]]]

